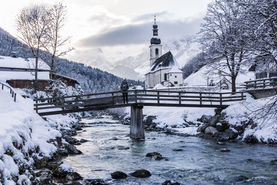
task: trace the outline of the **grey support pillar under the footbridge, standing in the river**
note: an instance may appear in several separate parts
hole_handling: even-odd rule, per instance
[[[130,137],[134,139],[144,139],[143,105],[133,105],[131,107],[131,127]]]

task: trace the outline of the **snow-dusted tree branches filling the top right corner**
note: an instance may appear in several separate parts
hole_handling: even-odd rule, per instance
[[[277,1],[244,0],[240,5],[247,12],[244,24],[251,27],[255,36],[251,48],[257,62],[277,65]]]

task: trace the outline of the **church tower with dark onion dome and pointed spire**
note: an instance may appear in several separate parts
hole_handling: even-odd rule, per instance
[[[156,23],[156,15],[154,16],[154,24],[153,24],[153,37],[150,40],[150,66],[154,63],[157,58],[161,57],[161,39],[158,36],[158,25]]]

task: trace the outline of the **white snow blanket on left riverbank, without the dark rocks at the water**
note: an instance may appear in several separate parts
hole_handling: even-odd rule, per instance
[[[4,184],[30,182],[30,173],[22,173],[22,168],[33,164],[34,158],[51,157],[57,148],[48,141],[62,136],[59,127],[77,121],[61,115],[44,121],[33,110],[33,100],[20,96],[24,94],[20,89],[15,92],[16,102],[9,89],[0,89],[0,179]],[[19,177],[18,182],[13,177]]]

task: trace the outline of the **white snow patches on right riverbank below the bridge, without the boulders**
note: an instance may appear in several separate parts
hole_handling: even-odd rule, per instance
[[[260,117],[255,112],[265,106],[271,98],[273,97],[254,100],[251,95],[247,94],[246,100],[231,103],[229,107],[223,110],[226,113],[225,120],[232,129],[237,126],[247,126],[244,132],[238,136],[238,139],[245,141],[247,136],[254,136],[259,143],[277,143],[276,115],[272,116],[270,114]],[[129,108],[126,108],[125,112],[129,116]],[[156,116],[153,122],[157,123],[157,127],[171,130],[177,134],[195,136],[200,133],[197,132],[197,125],[200,123],[197,119],[201,118],[202,115],[215,115],[215,109],[200,107],[143,107],[143,114],[145,119],[148,116]],[[250,119],[253,120],[253,124],[245,125],[249,123]]]

